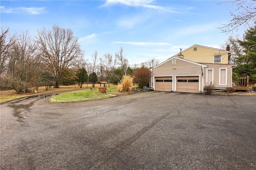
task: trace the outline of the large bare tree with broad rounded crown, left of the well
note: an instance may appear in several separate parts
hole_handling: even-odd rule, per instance
[[[52,29],[45,27],[37,31],[38,55],[46,63],[54,75],[56,88],[66,68],[80,63],[84,55],[80,49],[78,38],[74,37],[71,29],[64,29],[57,25]]]

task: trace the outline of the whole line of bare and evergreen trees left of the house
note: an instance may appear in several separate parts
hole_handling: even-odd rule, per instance
[[[10,28],[1,27],[0,45],[0,87],[17,93],[34,92],[39,86],[48,90],[69,84],[82,88],[91,83],[94,87],[98,81],[117,84],[123,75],[144,74],[145,70],[142,84],[148,85],[148,68],[152,63],[159,64],[157,59],[150,59],[129,66],[122,47],[115,55],[106,53],[102,57],[95,51],[89,62],[73,31],[58,25],[42,27],[34,36],[28,31],[11,35]]]

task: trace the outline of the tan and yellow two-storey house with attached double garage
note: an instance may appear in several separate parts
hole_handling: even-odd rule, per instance
[[[196,49],[195,49],[196,48]],[[232,87],[232,68],[229,51],[193,45],[151,71],[151,86],[158,91],[192,92],[213,84],[215,89]]]

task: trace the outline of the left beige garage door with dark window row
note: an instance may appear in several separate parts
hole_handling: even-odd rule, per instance
[[[172,91],[172,77],[156,77],[155,90]]]

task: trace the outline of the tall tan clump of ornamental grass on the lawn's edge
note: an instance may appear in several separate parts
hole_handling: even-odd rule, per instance
[[[133,77],[131,75],[123,75],[117,85],[118,92],[132,92]]]

